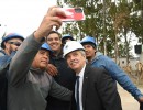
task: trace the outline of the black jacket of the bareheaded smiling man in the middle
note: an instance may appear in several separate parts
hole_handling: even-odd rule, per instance
[[[51,64],[55,65],[58,69],[58,75],[54,77],[56,82],[74,91],[76,74],[68,67],[66,59],[63,58],[63,53],[58,56],[52,56]],[[68,110],[69,105],[70,102],[68,101],[63,101],[48,96],[46,110]]]

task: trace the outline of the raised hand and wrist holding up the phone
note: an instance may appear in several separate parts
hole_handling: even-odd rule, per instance
[[[62,21],[57,14],[66,18],[65,12],[59,10],[58,7],[52,7],[48,9],[38,29],[34,33],[36,40],[40,41],[42,37],[47,36],[53,26],[56,26],[56,30],[61,28]]]

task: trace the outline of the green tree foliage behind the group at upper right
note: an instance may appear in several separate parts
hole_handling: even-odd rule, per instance
[[[85,35],[91,35],[97,38],[99,51],[107,50],[108,55],[114,56],[117,47],[118,56],[129,58],[132,55],[130,53],[132,36],[128,34],[134,33],[143,41],[143,14],[139,14],[139,11],[143,10],[143,6],[141,6],[143,3],[140,0],[132,2],[127,0],[103,1],[105,3],[101,0],[65,0],[67,6],[82,7],[86,20],[67,23],[64,33],[73,33],[78,36],[78,40]],[[121,43],[122,38],[125,41],[124,43]],[[107,48],[103,46],[105,42]]]

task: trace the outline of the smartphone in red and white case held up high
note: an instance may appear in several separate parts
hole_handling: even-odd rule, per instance
[[[63,10],[66,14],[66,18],[57,15],[63,22],[85,20],[82,8],[61,8],[61,10]]]

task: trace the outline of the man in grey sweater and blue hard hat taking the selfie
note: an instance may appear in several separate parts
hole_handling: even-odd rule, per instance
[[[28,36],[13,56],[8,74],[8,110],[45,110],[48,95],[70,100],[72,91],[59,86],[46,72],[50,46],[43,44],[53,26],[61,28],[57,7],[48,9],[38,29]]]

